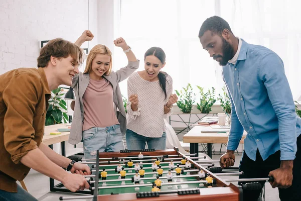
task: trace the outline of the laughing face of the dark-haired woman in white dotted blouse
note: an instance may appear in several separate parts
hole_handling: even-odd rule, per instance
[[[149,79],[154,79],[155,77],[157,77],[160,70],[164,66],[165,66],[165,63],[162,63],[160,61],[160,59],[158,59],[154,55],[146,56],[144,59],[144,69],[145,69],[146,76]]]

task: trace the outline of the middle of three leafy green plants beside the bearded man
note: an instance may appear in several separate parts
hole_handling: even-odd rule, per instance
[[[197,86],[200,90],[201,98],[200,103],[197,103],[197,109],[201,111],[201,113],[210,113],[211,107],[216,102],[216,99],[214,97],[215,94],[215,88],[212,87],[212,90],[208,89],[208,91],[204,92],[204,87]]]

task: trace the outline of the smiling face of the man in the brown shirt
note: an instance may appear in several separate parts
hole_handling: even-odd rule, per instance
[[[56,78],[59,84],[72,85],[72,79],[78,73],[78,60],[70,55],[67,58],[51,58],[55,65]]]

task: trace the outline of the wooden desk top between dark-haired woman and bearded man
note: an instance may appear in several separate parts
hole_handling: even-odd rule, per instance
[[[183,142],[187,143],[227,143],[228,135],[227,133],[201,133],[202,130],[208,130],[211,127],[207,126],[195,126],[187,134],[183,136]],[[243,136],[239,143],[243,144],[243,140],[246,137],[246,132],[243,133]]]

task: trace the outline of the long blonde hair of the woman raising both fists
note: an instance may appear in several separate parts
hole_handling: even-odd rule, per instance
[[[87,63],[86,63],[86,68],[84,70],[84,73],[89,73],[91,71],[92,61],[96,57],[97,54],[106,54],[106,55],[110,56],[109,69],[104,74],[104,75],[109,75],[112,71],[112,52],[105,45],[95,45],[91,49],[91,51],[89,52],[89,55],[87,57]]]

